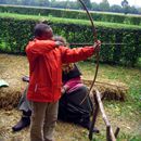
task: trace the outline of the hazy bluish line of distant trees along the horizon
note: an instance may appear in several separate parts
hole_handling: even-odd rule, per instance
[[[110,11],[118,13],[133,13],[141,14],[141,8],[130,7],[128,0],[123,0],[121,5],[110,7],[108,0],[102,0],[101,3],[91,2],[91,0],[82,0],[89,10],[93,11]],[[51,7],[51,8],[62,8],[62,9],[82,9],[78,0],[0,0],[0,4],[22,4],[22,5],[37,5],[37,7]]]

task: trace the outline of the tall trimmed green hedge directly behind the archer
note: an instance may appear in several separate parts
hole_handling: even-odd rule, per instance
[[[0,51],[25,53],[25,47],[33,37],[34,26],[40,18],[46,18],[53,28],[54,34],[64,36],[68,42],[93,42],[91,25],[88,21],[1,13]],[[94,24],[98,30],[98,39],[102,42],[126,43],[103,44],[101,48],[101,62],[136,65],[141,56],[141,27],[107,23]]]

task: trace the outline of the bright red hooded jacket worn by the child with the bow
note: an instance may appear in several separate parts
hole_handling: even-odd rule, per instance
[[[35,102],[57,101],[61,98],[62,63],[86,60],[93,53],[93,47],[56,48],[52,40],[29,41],[26,47],[30,78],[27,99]]]

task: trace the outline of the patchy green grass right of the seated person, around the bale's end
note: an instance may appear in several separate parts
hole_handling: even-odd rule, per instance
[[[82,76],[92,79],[95,64],[78,63]],[[104,107],[112,125],[121,126],[117,141],[141,141],[141,69],[100,64],[97,80],[107,79],[124,82],[129,87],[125,102],[105,101]],[[130,128],[134,131],[130,132]],[[105,130],[105,129],[104,129]],[[94,136],[93,141],[104,141],[105,132]]]

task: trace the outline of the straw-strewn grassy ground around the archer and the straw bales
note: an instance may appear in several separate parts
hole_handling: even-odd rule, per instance
[[[85,79],[92,79],[95,64],[90,62],[78,63]],[[18,85],[23,75],[27,75],[26,56],[0,54],[0,77],[8,77],[10,85]],[[3,74],[3,75],[2,75]],[[111,80],[124,82],[129,87],[126,101],[104,101],[106,115],[113,129],[118,126],[120,132],[117,141],[141,141],[141,68],[111,66],[100,64],[97,81]],[[8,98],[10,99],[10,98]],[[29,141],[29,128],[13,133],[11,127],[20,119],[21,113],[0,110],[0,141]],[[97,125],[100,133],[93,141],[105,141],[105,125],[101,114]],[[57,121],[55,129],[56,141],[88,141],[88,131],[76,125]]]

